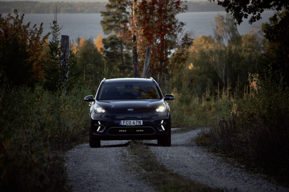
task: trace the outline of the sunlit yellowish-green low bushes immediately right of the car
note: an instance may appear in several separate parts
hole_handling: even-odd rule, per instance
[[[218,118],[229,116],[232,109],[232,101],[226,94],[218,98],[209,94],[199,98],[189,92],[174,96],[169,102],[173,127],[211,126]]]

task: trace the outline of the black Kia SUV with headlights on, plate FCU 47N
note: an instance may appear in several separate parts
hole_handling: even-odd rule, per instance
[[[171,113],[158,83],[151,77],[103,79],[90,102],[90,147],[100,140],[153,140],[171,146]]]

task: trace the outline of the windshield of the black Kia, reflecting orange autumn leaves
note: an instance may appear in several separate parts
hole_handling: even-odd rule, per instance
[[[103,83],[97,100],[160,99],[155,83]]]

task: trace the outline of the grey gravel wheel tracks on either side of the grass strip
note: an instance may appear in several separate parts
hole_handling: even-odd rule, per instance
[[[249,174],[224,163],[220,157],[191,142],[199,131],[172,134],[171,147],[160,147],[156,140],[144,143],[155,144],[149,148],[167,168],[210,187],[234,192],[289,192],[288,188],[269,183],[262,175]],[[65,167],[73,191],[155,191],[127,171],[129,161],[123,155],[127,154],[127,142],[101,141],[101,148],[83,144],[68,151]]]

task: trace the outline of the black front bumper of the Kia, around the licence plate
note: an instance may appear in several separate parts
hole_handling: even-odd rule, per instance
[[[169,113],[157,113],[151,118],[111,119],[104,114],[90,115],[90,134],[101,140],[153,140],[171,133]],[[120,126],[121,120],[142,120],[141,126]]]

